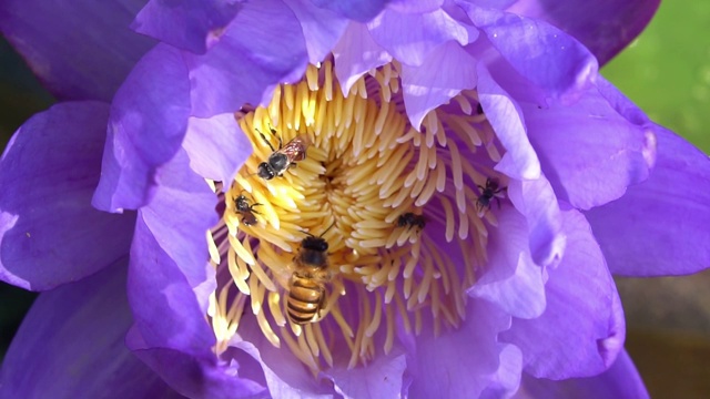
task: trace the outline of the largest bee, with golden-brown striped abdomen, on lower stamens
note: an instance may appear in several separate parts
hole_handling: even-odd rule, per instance
[[[333,225],[331,225],[333,227]],[[296,325],[318,321],[326,307],[327,289],[332,275],[328,264],[328,243],[323,235],[308,234],[293,258],[295,270],[288,282],[286,314]]]

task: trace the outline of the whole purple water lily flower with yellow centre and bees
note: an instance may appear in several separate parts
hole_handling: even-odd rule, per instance
[[[710,259],[710,161],[597,73],[656,1],[64,7],[0,14],[77,100],[1,160],[3,397],[647,396],[610,273]]]

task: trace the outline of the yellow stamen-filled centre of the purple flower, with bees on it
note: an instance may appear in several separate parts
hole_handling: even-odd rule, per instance
[[[372,70],[345,96],[325,61],[276,88],[267,108],[236,114],[254,153],[229,190],[215,185],[217,354],[247,317],[314,372],[339,361],[334,348],[349,349],[352,368],[389,352],[397,329],[418,334],[426,319],[438,335],[460,324],[505,184],[476,92],[454,100],[416,130],[398,64]]]

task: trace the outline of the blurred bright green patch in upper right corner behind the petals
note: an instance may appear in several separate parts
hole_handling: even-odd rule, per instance
[[[661,1],[641,35],[601,73],[656,122],[710,153],[708,1]]]

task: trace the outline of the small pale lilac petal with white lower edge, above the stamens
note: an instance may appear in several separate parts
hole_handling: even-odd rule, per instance
[[[359,76],[392,61],[392,55],[373,40],[366,25],[351,22],[333,48],[333,59],[337,81],[343,94],[347,94]]]

